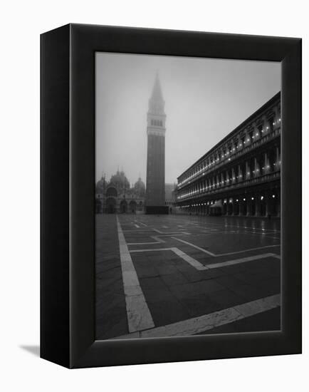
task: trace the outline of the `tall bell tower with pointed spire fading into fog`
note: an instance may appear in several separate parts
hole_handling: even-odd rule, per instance
[[[147,113],[146,213],[167,214],[165,207],[165,120],[164,99],[157,74]]]

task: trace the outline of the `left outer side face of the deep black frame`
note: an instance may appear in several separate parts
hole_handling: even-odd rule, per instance
[[[70,366],[68,281],[68,25],[41,34],[41,347]]]

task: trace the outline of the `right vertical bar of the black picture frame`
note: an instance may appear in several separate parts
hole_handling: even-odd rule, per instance
[[[283,332],[291,354],[302,352],[302,41],[283,58],[282,279]],[[285,132],[284,130],[287,129]],[[284,157],[288,156],[288,159]],[[293,207],[293,209],[292,209]],[[286,262],[288,260],[288,262]],[[293,277],[293,278],[292,278]]]

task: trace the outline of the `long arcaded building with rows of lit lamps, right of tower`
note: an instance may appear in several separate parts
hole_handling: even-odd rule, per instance
[[[177,178],[177,212],[281,215],[281,93]]]

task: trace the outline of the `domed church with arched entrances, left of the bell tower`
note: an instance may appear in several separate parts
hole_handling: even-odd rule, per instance
[[[142,213],[145,207],[145,194],[146,187],[141,178],[130,187],[125,172],[117,170],[109,182],[102,177],[95,185],[95,212]]]

